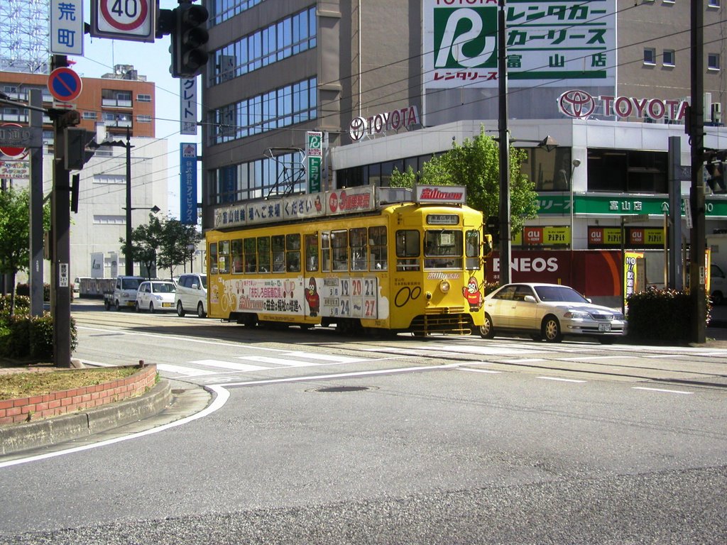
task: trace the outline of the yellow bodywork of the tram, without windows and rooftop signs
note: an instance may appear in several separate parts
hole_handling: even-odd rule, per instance
[[[440,228],[427,225],[427,216],[432,214],[457,214],[457,228],[481,231],[481,213],[467,206],[420,206],[414,203],[387,206],[376,213],[355,217],[209,230],[206,232],[207,255],[210,257],[209,316],[234,320],[241,314],[254,314],[260,321],[300,325],[317,325],[322,320],[336,323],[337,320],[352,318],[360,320],[361,326],[366,328],[405,331],[411,328],[417,317],[461,314],[469,315],[475,327],[481,326],[484,292],[481,265],[469,269],[438,270],[425,267],[421,255],[411,259],[411,266],[401,265],[402,260],[397,257],[397,233],[419,230],[423,234],[425,230]],[[378,263],[374,265],[374,258],[369,253],[366,270],[353,270],[352,262],[346,270],[324,270],[322,233],[328,233],[330,238],[343,230],[369,230],[370,227],[386,227],[383,268],[377,268]],[[300,234],[301,260],[305,264],[298,271],[247,273],[240,270],[236,273],[231,264],[233,258],[220,256],[220,251],[217,251],[217,264],[212,263],[212,244],[219,246],[224,241],[296,233]],[[312,257],[305,254],[306,235],[317,237],[317,267],[308,267],[305,263]],[[331,249],[332,241],[328,241],[328,246]],[[225,259],[230,262],[225,262]],[[332,256],[329,255],[329,259]],[[334,266],[327,268],[333,269]],[[449,289],[443,291],[441,286],[445,284]]]

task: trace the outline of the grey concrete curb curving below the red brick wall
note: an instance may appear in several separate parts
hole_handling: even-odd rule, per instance
[[[46,420],[3,426],[0,427],[0,456],[65,443],[131,424],[160,413],[171,400],[169,382],[161,379],[140,397]]]

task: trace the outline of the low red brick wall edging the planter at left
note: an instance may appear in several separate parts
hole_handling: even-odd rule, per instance
[[[156,382],[156,365],[144,366],[132,376],[95,386],[45,395],[0,401],[0,424],[14,424],[84,411],[142,395]]]

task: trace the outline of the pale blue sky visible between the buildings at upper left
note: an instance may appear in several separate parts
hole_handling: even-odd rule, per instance
[[[160,0],[161,9],[174,9],[177,0]],[[88,9],[84,20],[90,23],[91,14]],[[129,40],[111,40],[84,37],[84,56],[69,56],[76,61],[73,70],[81,77],[100,78],[113,72],[114,65],[133,65],[140,76],[156,84],[156,137],[168,139],[167,173],[169,180],[169,212],[172,217],[179,217],[180,209],[180,143],[200,142],[199,135],[180,135],[180,81],[172,78],[169,73],[171,55],[169,53],[169,36],[156,39],[153,43]],[[200,89],[201,81],[197,81]],[[201,149],[198,148],[198,153]],[[201,193],[198,193],[201,195]]]

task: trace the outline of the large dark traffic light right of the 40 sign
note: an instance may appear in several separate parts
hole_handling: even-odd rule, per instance
[[[180,3],[174,12],[172,29],[172,66],[169,71],[174,78],[193,78],[201,73],[209,55],[206,43],[209,33],[204,28],[209,17],[206,7],[190,2]]]

